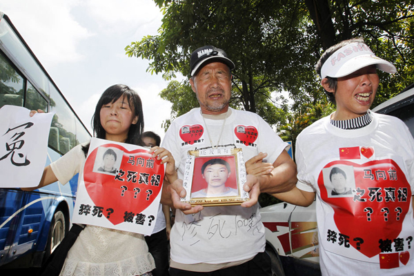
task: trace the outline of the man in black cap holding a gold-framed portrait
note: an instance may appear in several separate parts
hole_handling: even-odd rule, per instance
[[[219,48],[195,50],[190,59],[190,84],[200,108],[175,119],[164,137],[163,146],[172,153],[179,175],[168,187],[175,208],[181,209],[171,230],[170,275],[271,275],[257,197],[260,191],[277,193],[293,188],[296,166],[284,150],[287,144],[261,117],[228,106],[230,70],[234,68]],[[183,126],[188,127],[187,133]],[[246,133],[237,132],[238,126],[244,126]],[[186,194],[181,179],[188,150],[224,147],[242,148],[245,160],[267,152],[271,164],[266,174],[247,175],[244,190],[250,201],[241,206],[206,208],[181,203],[179,196]],[[255,161],[250,163],[257,167]]]

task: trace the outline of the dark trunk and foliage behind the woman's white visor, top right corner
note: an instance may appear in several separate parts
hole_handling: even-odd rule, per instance
[[[396,75],[380,72],[373,106],[414,82],[414,1],[305,0],[323,49],[353,37],[364,37],[371,50],[397,67]]]

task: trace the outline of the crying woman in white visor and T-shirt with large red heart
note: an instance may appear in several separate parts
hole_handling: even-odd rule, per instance
[[[396,72],[362,39],[324,52],[316,70],[337,108],[299,134],[297,187],[275,195],[308,206],[317,194],[322,275],[414,272],[414,139],[400,119],[369,110],[380,84],[377,69]],[[335,174],[338,166],[355,179],[350,196],[328,194],[324,172]]]

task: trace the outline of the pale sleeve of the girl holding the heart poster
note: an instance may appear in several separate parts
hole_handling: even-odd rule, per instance
[[[81,160],[84,159],[85,153],[82,150],[82,146],[79,144],[67,152],[66,155],[63,155],[61,158],[50,164],[50,168],[52,168],[53,173],[55,173],[57,180],[65,185],[79,172],[81,168]]]

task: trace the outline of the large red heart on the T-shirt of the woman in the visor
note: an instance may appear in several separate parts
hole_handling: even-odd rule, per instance
[[[404,221],[408,208],[411,208],[410,185],[400,166],[392,159],[373,160],[365,164],[340,160],[327,164],[325,168],[338,165],[340,168],[353,166],[354,195],[349,197],[330,195],[328,197],[322,171],[318,178],[321,197],[335,211],[334,220],[339,232],[348,236],[348,242],[351,246],[359,247],[357,248],[359,252],[371,258],[381,253],[381,239],[393,241],[400,235],[402,221]],[[392,190],[393,188],[395,190]],[[395,210],[402,210],[399,212],[399,219],[397,219],[397,211]],[[363,239],[363,242],[360,239]],[[339,242],[339,239],[336,241],[332,239],[331,242],[335,244],[335,242]]]

